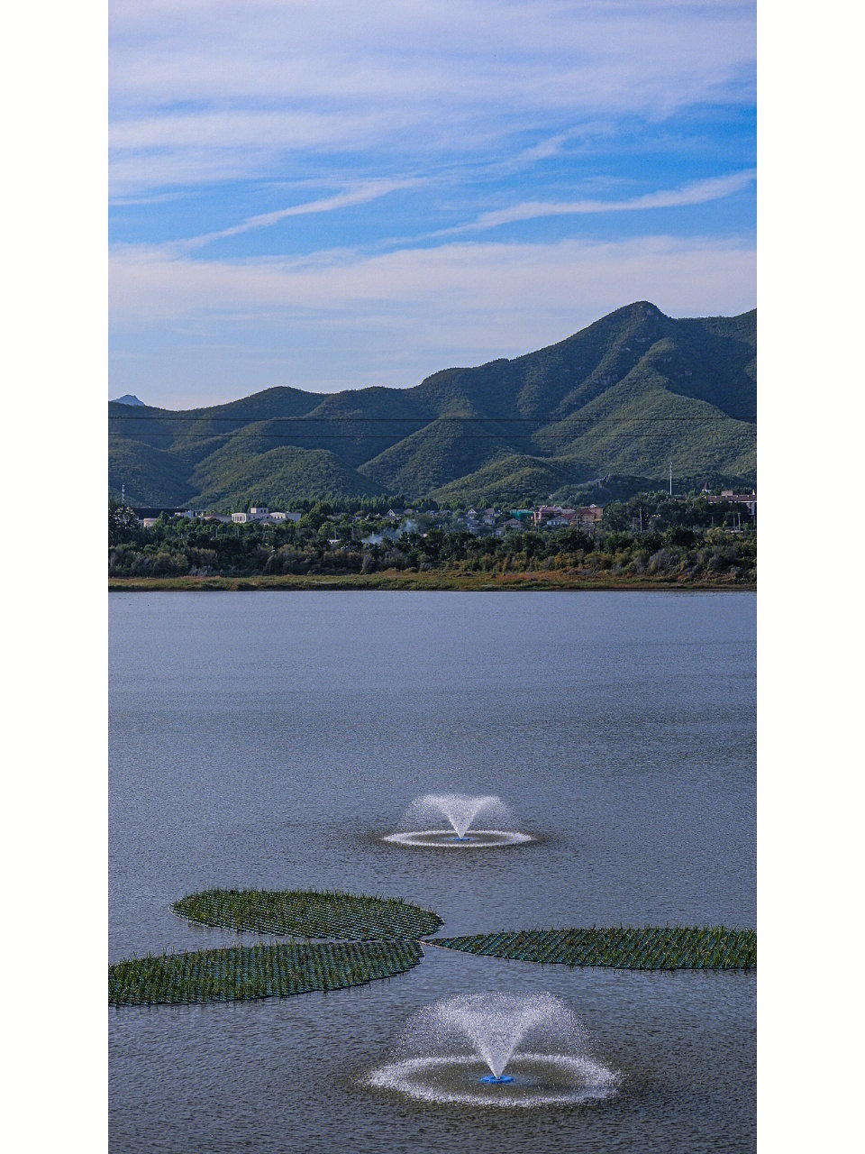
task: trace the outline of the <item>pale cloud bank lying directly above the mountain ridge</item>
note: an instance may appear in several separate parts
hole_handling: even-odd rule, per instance
[[[115,347],[145,358],[135,370],[118,362],[115,384],[175,404],[271,384],[414,384],[540,349],[632,300],[672,316],[744,312],[754,267],[750,242],[710,237],[462,240],[300,261],[123,247],[111,257]]]

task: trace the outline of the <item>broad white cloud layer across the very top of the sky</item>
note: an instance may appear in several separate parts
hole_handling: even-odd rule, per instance
[[[754,90],[750,2],[113,0],[112,12],[112,174],[125,193],[255,177],[301,149],[468,155],[550,118],[555,142],[562,123],[657,119]]]

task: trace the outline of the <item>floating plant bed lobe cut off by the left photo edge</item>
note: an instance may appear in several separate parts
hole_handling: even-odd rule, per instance
[[[341,990],[403,974],[422,957],[416,942],[280,943],[149,956],[108,967],[108,1003],[248,1002]]]

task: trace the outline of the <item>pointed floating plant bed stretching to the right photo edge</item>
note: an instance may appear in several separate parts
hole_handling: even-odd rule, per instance
[[[435,938],[428,944],[488,958],[564,966],[615,966],[620,969],[753,969],[757,966],[755,931],[731,930],[724,926],[516,930]]]

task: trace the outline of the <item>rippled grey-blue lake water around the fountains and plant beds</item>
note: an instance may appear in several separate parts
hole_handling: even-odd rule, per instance
[[[755,924],[752,593],[113,593],[111,960],[236,943],[171,913],[208,886],[341,887],[442,932]],[[531,845],[383,844],[413,797],[501,794]],[[253,936],[245,935],[249,943]],[[411,1014],[549,990],[618,1094],[571,1109],[363,1086]],[[110,1013],[111,1149],[745,1152],[753,974],[428,950],[330,995]]]

